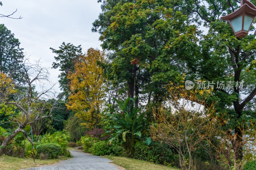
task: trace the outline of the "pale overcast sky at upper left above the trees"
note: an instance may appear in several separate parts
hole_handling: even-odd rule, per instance
[[[92,22],[101,11],[97,0],[0,0],[0,14],[11,14],[21,19],[0,18],[0,23],[15,34],[31,60],[39,60],[44,67],[50,68],[54,54],[49,48],[57,49],[61,43],[82,45],[83,51],[88,48],[99,48],[99,34],[92,33]],[[51,79],[58,81],[60,72],[49,69]],[[59,84],[55,85],[59,90]]]

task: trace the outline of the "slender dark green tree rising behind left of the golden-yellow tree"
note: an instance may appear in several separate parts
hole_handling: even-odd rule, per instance
[[[82,55],[81,45],[76,47],[71,43],[65,44],[65,42],[62,42],[59,49],[50,49],[52,50],[52,53],[57,55],[54,56],[56,62],[52,63],[52,68],[59,68],[61,71],[59,75],[60,89],[63,91],[61,95],[64,96],[65,100],[67,100],[70,94],[69,80],[67,75],[70,71],[74,71],[76,58]]]

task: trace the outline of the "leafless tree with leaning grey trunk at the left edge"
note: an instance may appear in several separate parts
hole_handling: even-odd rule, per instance
[[[12,83],[8,83],[10,82],[8,77],[2,76],[0,82],[1,102],[5,107],[11,106],[19,110],[18,116],[12,115],[12,121],[17,123],[19,127],[1,144],[0,155],[3,154],[8,142],[19,132],[23,132],[29,142],[34,145],[27,132],[23,130],[24,127],[45,117],[50,117],[53,108],[53,104],[46,101],[50,98],[52,99],[55,95],[52,88],[56,83],[54,84],[49,80],[48,70],[42,67],[39,61],[31,64],[28,59],[25,59],[17,71],[26,81],[23,89],[16,90]],[[1,73],[1,75],[3,74]],[[36,89],[40,89],[40,91]],[[51,108],[49,109],[49,107]],[[12,113],[9,114],[11,115]]]

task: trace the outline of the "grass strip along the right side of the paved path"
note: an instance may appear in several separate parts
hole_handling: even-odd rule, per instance
[[[151,162],[137,160],[137,159],[130,159],[124,157],[116,157],[116,156],[108,156],[105,155],[105,158],[113,160],[112,163],[124,167],[126,170],[179,170],[179,168],[172,168],[163,165],[156,165]]]

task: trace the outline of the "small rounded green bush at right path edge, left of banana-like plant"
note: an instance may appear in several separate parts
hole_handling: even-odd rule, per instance
[[[92,146],[92,154],[103,156],[103,155],[114,155],[118,156],[119,152],[123,150],[122,147],[109,143],[108,141],[100,141]]]

